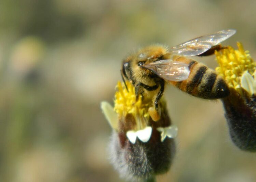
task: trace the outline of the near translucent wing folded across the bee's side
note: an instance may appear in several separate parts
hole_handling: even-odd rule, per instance
[[[149,69],[159,77],[169,81],[186,80],[190,73],[188,64],[179,61],[173,61],[172,59],[147,63],[141,67]]]

